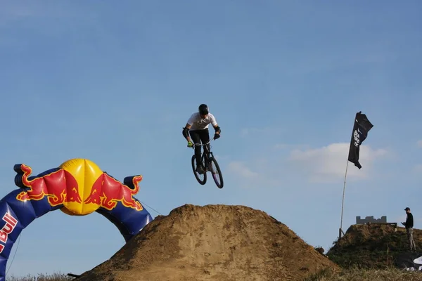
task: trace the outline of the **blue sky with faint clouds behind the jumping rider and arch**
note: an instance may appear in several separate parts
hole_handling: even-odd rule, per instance
[[[142,174],[136,198],[153,217],[186,203],[241,204],[328,250],[362,110],[374,126],[362,169],[348,166],[343,230],[356,216],[404,221],[407,206],[421,228],[421,10],[420,1],[2,1],[0,190],[17,188],[13,164],[38,174],[84,157],[120,180]],[[181,135],[200,103],[222,128],[212,143],[222,190],[196,182]],[[123,244],[99,214],[51,212],[23,230],[8,275],[79,274]]]

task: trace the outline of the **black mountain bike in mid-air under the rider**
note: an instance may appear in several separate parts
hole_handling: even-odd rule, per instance
[[[202,163],[203,163],[203,167],[205,169],[204,174],[199,174],[196,171],[196,157],[195,157],[195,153],[192,155],[192,169],[193,169],[193,174],[195,175],[196,181],[198,181],[198,183],[200,183],[201,185],[205,185],[205,183],[207,183],[207,171],[210,171],[212,174],[212,178],[214,178],[214,182],[217,185],[218,188],[223,188],[224,182],[223,182],[223,175],[222,175],[222,171],[219,168],[219,164],[217,163],[217,159],[215,159],[214,155],[212,154],[212,151],[208,150],[208,146],[211,142],[211,140],[208,143],[205,144],[196,144],[194,143],[192,148],[195,149],[195,146],[203,146],[203,154],[201,156],[202,159]],[[210,145],[211,147],[211,145]],[[212,167],[212,163],[215,164],[215,169]],[[217,174],[218,174],[218,178],[217,178]],[[200,180],[200,176],[204,176],[203,180]],[[219,181],[218,181],[219,179]]]

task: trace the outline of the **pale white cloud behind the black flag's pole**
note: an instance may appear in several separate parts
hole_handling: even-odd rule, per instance
[[[345,176],[349,146],[350,143],[332,143],[323,148],[293,150],[289,161],[298,164],[300,172],[308,176],[311,182],[340,181]],[[349,162],[347,180],[368,178],[373,162],[386,154],[386,150],[373,150],[369,146],[361,145],[359,162],[362,164],[362,169],[357,169]]]

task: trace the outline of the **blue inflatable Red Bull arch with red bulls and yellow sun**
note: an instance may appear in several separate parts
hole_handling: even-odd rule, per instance
[[[79,158],[37,176],[31,176],[25,164],[13,169],[19,188],[0,200],[0,281],[6,278],[6,263],[21,231],[49,211],[60,209],[70,216],[96,211],[117,226],[126,242],[152,221],[134,197],[141,175],[127,176],[121,183],[89,159]]]

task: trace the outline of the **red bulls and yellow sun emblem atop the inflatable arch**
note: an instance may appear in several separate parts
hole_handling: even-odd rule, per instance
[[[61,210],[65,214],[77,216],[91,214],[99,207],[110,211],[118,202],[124,207],[143,210],[141,203],[134,198],[139,192],[140,175],[125,178],[124,181],[130,182],[123,184],[88,159],[71,159],[34,178],[30,178],[30,166],[21,164],[19,170],[22,187],[28,188],[16,197],[20,201],[47,197],[51,206],[63,204]]]

